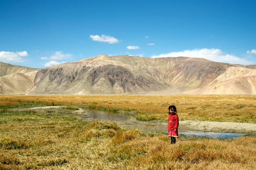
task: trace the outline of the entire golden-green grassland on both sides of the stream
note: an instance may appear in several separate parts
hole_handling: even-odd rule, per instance
[[[2,95],[0,169],[256,169],[255,136],[180,135],[171,145],[161,132],[127,130],[116,123],[82,122],[74,114],[26,109],[63,105],[70,111],[91,108],[134,113],[139,120],[166,120],[166,108],[174,104],[184,120],[256,123],[255,101],[253,95]]]

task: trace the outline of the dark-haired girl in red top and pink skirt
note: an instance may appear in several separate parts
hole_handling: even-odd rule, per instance
[[[171,144],[175,144],[176,138],[178,138],[179,118],[176,113],[176,107],[174,105],[169,106],[168,137],[171,138]]]

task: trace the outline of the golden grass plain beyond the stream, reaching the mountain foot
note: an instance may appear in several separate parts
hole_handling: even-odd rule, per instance
[[[175,105],[180,120],[256,123],[256,95],[1,95],[0,109],[74,105],[133,114],[140,121],[168,119]],[[132,112],[133,111],[133,112]]]

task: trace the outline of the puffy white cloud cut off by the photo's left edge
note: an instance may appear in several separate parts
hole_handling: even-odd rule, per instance
[[[22,60],[22,57],[28,56],[27,51],[16,51],[16,53],[14,52],[10,52],[10,51],[0,51],[0,61],[4,61],[4,62],[8,62],[8,61],[12,61],[12,62],[24,62]]]

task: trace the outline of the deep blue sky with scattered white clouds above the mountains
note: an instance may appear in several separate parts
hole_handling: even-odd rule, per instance
[[[256,64],[256,1],[0,0],[0,61],[44,68],[100,54]]]

